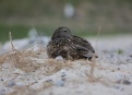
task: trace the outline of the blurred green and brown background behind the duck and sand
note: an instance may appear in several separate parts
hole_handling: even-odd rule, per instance
[[[132,34],[132,0],[0,0],[0,41],[50,36],[59,26],[80,36]]]

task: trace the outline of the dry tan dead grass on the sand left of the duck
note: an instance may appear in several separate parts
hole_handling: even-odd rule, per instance
[[[55,59],[47,59],[45,57],[44,59],[40,58],[40,56],[45,56],[46,51],[41,48],[34,51],[33,49],[24,49],[24,50],[17,50],[13,46],[12,43],[12,36],[10,33],[10,41],[12,46],[12,51],[2,54],[0,56],[0,63],[8,61],[10,63],[13,63],[15,68],[21,69],[25,72],[34,72],[38,70],[40,67],[44,67],[46,72],[46,75],[53,74],[55,72],[61,70],[63,67],[68,67],[65,61],[58,61]],[[39,58],[39,59],[38,59]]]

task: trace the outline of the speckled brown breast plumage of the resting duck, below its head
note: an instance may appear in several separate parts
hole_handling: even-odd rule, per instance
[[[56,38],[49,41],[47,46],[47,52],[50,58],[62,56],[63,58],[69,59],[70,56],[76,55],[75,50],[74,44],[68,38]]]

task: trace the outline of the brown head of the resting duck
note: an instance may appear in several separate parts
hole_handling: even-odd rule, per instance
[[[59,27],[52,34],[51,40],[56,38],[72,38],[71,31],[68,27]]]

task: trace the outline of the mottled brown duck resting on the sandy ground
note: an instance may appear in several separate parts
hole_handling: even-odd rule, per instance
[[[49,58],[62,56],[68,60],[98,58],[91,43],[85,38],[72,35],[68,27],[57,28],[51,40],[47,45],[47,55]]]

